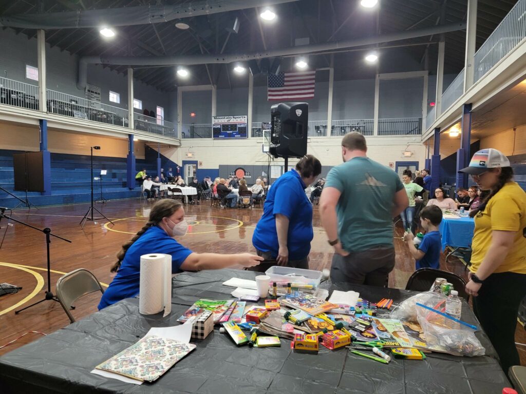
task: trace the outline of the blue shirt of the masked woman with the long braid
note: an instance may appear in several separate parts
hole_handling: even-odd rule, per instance
[[[99,309],[139,294],[140,256],[151,253],[171,255],[171,272],[177,274],[181,272],[181,264],[192,251],[174,240],[158,226],[150,227],[128,248],[117,275],[100,299]]]

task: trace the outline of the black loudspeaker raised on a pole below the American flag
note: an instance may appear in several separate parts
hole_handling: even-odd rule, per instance
[[[274,157],[297,157],[307,154],[306,102],[281,102],[270,107],[270,154]]]

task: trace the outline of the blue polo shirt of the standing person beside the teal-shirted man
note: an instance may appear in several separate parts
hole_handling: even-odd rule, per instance
[[[278,256],[279,243],[276,231],[276,214],[289,218],[287,246],[289,260],[302,260],[310,252],[312,232],[312,204],[305,188],[295,170],[281,175],[268,191],[263,207],[263,215],[256,225],[252,244],[261,252],[271,252],[272,258]]]

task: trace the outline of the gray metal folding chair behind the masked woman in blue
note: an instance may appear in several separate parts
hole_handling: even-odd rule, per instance
[[[75,269],[75,271],[61,276],[57,281],[57,298],[72,323],[75,322],[75,318],[69,309],[75,308],[73,306],[75,301],[82,296],[98,291],[104,294],[104,289],[95,275],[84,268]]]

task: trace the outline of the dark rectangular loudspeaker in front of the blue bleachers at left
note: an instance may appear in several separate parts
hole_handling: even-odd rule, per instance
[[[45,192],[43,152],[13,153],[15,190]]]

